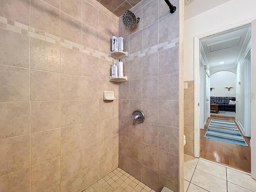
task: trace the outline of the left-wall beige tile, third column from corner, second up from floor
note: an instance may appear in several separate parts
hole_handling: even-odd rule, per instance
[[[94,143],[82,149],[83,170],[99,162],[99,143]]]

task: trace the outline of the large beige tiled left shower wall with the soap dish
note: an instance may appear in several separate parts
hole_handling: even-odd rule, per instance
[[[117,168],[112,35],[96,0],[0,2],[1,192],[80,192]]]

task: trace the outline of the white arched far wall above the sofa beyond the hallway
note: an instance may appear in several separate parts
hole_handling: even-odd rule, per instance
[[[210,87],[214,87],[210,96],[236,96],[236,74],[230,71],[220,71],[211,75]],[[225,87],[234,87],[228,91]]]

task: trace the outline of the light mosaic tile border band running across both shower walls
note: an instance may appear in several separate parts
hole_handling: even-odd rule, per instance
[[[72,49],[72,50],[76,50],[76,51],[79,51],[79,52],[83,52],[84,54],[88,54],[88,55],[91,55],[91,56],[94,56],[94,57],[97,57],[97,58],[108,60],[110,62],[116,62],[115,58],[109,56],[106,53],[102,53],[102,52],[99,52],[97,50],[93,50],[91,48],[82,46],[81,44],[71,42],[69,40],[60,38],[58,36],[49,34],[47,32],[38,30],[36,28],[32,28],[32,27],[27,26],[25,24],[22,24],[22,23],[19,23],[19,22],[16,22],[16,21],[13,21],[13,20],[1,17],[1,16],[0,16],[0,28],[4,28],[4,29],[7,29],[7,30],[16,32],[16,33],[28,35],[30,37],[37,38],[37,39],[40,39],[40,40],[43,40],[43,41],[46,41],[46,42],[50,42],[50,43],[53,43],[53,44],[60,44],[60,46],[63,46],[63,47],[66,47],[66,48],[69,48],[69,49]],[[142,51],[132,53],[132,54],[128,55],[128,57],[124,58],[123,62],[128,62],[128,61],[134,60],[136,58],[140,58],[140,57],[143,57],[143,56],[146,56],[146,55],[154,54],[156,52],[159,52],[161,50],[166,50],[166,49],[172,48],[174,46],[179,46],[179,38],[175,38],[175,39],[172,39],[168,42],[166,41],[164,43],[146,48]]]

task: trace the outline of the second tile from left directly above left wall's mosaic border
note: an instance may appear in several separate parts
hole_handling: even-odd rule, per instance
[[[60,11],[58,9],[40,0],[32,0],[30,12],[31,27],[60,36]],[[48,14],[49,12],[52,14]]]

